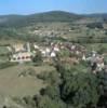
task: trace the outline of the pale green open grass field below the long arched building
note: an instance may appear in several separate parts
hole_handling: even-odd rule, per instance
[[[19,77],[19,73],[28,70],[29,68],[34,69],[36,73],[54,70],[54,67],[52,66],[34,67],[24,64],[5,69],[0,69],[0,103],[3,102],[8,96],[23,97],[26,95],[38,94],[39,90],[46,85],[36,76]]]

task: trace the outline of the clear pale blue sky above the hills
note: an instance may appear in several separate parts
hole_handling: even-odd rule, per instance
[[[78,14],[107,13],[107,0],[0,0],[0,15],[48,11]]]

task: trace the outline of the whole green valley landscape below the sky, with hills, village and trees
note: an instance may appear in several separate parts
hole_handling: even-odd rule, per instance
[[[0,16],[0,108],[103,108],[106,77],[107,14]]]

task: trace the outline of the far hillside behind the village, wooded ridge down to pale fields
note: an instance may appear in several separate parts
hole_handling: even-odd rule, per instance
[[[66,37],[69,39],[93,36],[104,36],[107,32],[104,24],[107,14],[73,14],[63,11],[51,11],[31,15],[3,15],[0,16],[0,38],[27,39],[41,37]],[[90,25],[89,25],[90,24]],[[94,25],[94,26],[93,26]],[[98,31],[91,28],[101,27]],[[107,27],[107,25],[105,25]],[[89,30],[89,31],[88,31]]]

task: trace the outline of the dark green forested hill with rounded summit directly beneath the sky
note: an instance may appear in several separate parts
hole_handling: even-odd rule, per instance
[[[0,16],[0,27],[5,26],[27,26],[39,22],[72,22],[82,18],[82,15],[63,11],[51,11],[31,15],[3,15]]]

